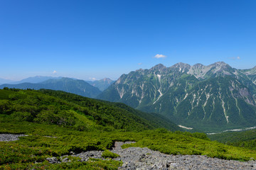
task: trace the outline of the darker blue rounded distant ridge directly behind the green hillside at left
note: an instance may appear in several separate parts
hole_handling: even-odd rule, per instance
[[[80,96],[86,96],[94,98],[99,95],[101,91],[97,87],[88,84],[83,80],[61,78],[61,79],[48,79],[39,84],[22,83],[22,84],[2,84],[0,89],[4,87],[16,88],[16,89],[51,89],[66,91],[72,94],[78,94]]]

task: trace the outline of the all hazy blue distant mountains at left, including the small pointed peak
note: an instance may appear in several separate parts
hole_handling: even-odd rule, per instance
[[[0,79],[1,80],[1,79]],[[0,89],[4,87],[16,89],[52,89],[66,91],[80,96],[95,98],[97,95],[107,89],[114,81],[111,79],[101,79],[95,81],[83,81],[79,79],[67,77],[28,77],[21,81],[8,81],[2,79],[2,82],[9,84],[0,85]]]

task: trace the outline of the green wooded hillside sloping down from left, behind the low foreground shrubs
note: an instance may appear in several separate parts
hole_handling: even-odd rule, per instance
[[[64,91],[0,90],[0,114],[14,120],[56,124],[75,130],[179,130],[165,118],[136,111],[123,103],[85,98]]]

